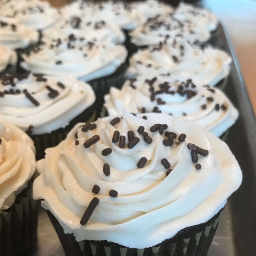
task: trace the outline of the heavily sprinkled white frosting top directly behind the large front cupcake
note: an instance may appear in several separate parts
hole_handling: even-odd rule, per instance
[[[122,89],[111,87],[105,95],[109,116],[127,113],[166,113],[192,120],[219,137],[238,118],[238,111],[221,90],[197,87],[192,80],[168,82],[127,80]]]

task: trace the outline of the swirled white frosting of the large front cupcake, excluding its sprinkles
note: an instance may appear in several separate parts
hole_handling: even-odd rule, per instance
[[[97,128],[82,132],[76,125],[55,148],[46,150],[46,158],[37,163],[41,175],[34,183],[34,198],[58,219],[65,233],[73,233],[77,241],[107,240],[130,248],[154,246],[173,237],[179,230],[209,220],[239,188],[241,170],[228,146],[200,125],[165,114],[146,114],[147,120],[124,114],[119,124],[110,124],[112,117],[98,119]],[[150,132],[153,124],[167,124],[167,131],[186,134],[180,145],[166,147],[163,135]],[[145,127],[153,142],[146,144],[137,129]],[[114,131],[127,138],[134,131],[140,142],[134,148],[119,148],[112,143]],[[78,131],[78,139],[75,134]],[[99,142],[84,148],[84,141],[98,134]],[[75,145],[79,140],[79,145]],[[187,143],[209,151],[199,155],[201,170],[195,169]],[[106,157],[102,150],[112,148]],[[137,163],[146,157],[146,165]],[[172,172],[166,177],[161,160],[166,158]],[[110,165],[109,176],[102,167]],[[93,186],[100,187],[98,195]],[[111,198],[108,192],[118,192]],[[80,220],[93,197],[99,204],[86,225]]]

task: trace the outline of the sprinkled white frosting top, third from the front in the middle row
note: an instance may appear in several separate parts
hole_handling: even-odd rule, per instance
[[[115,24],[108,24],[97,17],[81,17],[74,15],[69,19],[60,22],[43,33],[43,41],[49,42],[52,39],[65,40],[69,35],[76,38],[86,38],[89,41],[111,42],[122,44],[125,35]]]

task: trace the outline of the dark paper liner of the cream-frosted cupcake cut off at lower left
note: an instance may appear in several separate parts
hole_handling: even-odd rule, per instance
[[[38,204],[32,183],[17,195],[15,203],[0,214],[0,255],[27,256],[37,238]]]

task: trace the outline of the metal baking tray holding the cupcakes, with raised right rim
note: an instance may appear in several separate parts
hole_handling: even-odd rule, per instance
[[[240,117],[230,128],[226,141],[239,161],[243,182],[228,200],[207,256],[256,256],[256,118],[236,53],[221,25],[215,46],[225,49],[233,57],[225,92],[239,109]],[[32,256],[64,255],[58,236],[46,212],[41,209],[38,241]]]

